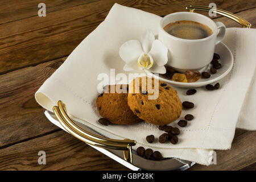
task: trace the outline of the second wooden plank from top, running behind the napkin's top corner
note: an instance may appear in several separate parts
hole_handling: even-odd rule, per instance
[[[108,0],[53,11],[47,13],[46,17],[32,16],[1,24],[0,74],[68,56],[81,40],[104,20],[114,2],[157,15],[166,15],[175,11],[184,11],[184,7],[194,1]],[[201,5],[208,5],[210,2],[212,0],[197,1]],[[217,7],[231,12],[255,6],[251,1],[234,0],[229,3],[216,3]]]

